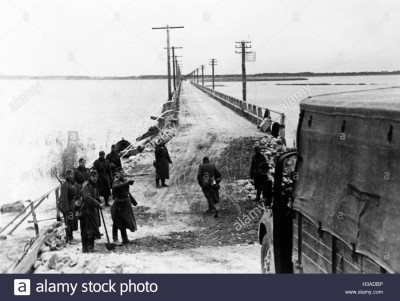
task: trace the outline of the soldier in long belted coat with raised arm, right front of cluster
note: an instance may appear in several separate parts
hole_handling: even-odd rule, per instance
[[[118,229],[121,231],[123,244],[130,243],[126,229],[129,229],[131,232],[135,232],[137,230],[136,219],[132,209],[133,199],[131,199],[129,194],[129,186],[133,185],[133,183],[133,180],[125,180],[124,170],[122,167],[117,168],[112,184],[115,201],[111,206],[111,217],[113,220],[113,240],[114,243],[117,244],[119,243]]]

